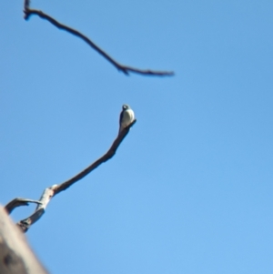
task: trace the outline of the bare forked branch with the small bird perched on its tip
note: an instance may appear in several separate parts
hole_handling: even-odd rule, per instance
[[[100,166],[102,163],[105,163],[110,158],[114,157],[116,154],[117,148],[122,143],[123,139],[128,134],[131,127],[133,127],[136,123],[136,120],[134,120],[128,127],[124,128],[116,137],[116,140],[113,142],[112,146],[108,149],[106,154],[100,158],[98,158],[93,164],[91,164],[89,167],[86,167],[84,170],[76,174],[73,178],[68,179],[64,183],[60,185],[54,185],[50,188],[45,188],[42,197],[38,200],[30,200],[30,199],[22,199],[22,198],[15,198],[11,202],[9,202],[5,206],[5,210],[10,213],[12,209],[19,207],[23,204],[26,204],[27,202],[35,202],[37,203],[37,207],[35,208],[35,212],[29,216],[28,218],[22,219],[17,223],[17,226],[21,228],[23,232],[26,232],[39,218],[41,218],[45,213],[45,208],[50,202],[51,198],[56,196],[61,191],[66,190],[66,188],[71,187],[73,184],[75,184],[80,179],[86,177],[87,174],[92,172],[96,167]]]

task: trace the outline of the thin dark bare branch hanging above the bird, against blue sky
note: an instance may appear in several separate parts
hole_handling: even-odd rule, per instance
[[[29,5],[30,5],[30,1],[25,0],[25,9],[24,9],[25,20],[27,20],[31,15],[38,15],[40,18],[47,20],[52,25],[55,25],[57,28],[66,30],[66,32],[83,39],[89,46],[95,49],[98,54],[100,54],[101,56],[104,56],[107,61],[109,61],[113,66],[115,66],[117,70],[122,71],[125,75],[129,75],[129,73],[131,72],[131,73],[136,73],[136,74],[145,75],[145,76],[174,76],[174,72],[172,71],[155,71],[150,69],[138,69],[132,66],[121,65],[117,63],[116,60],[114,60],[111,56],[106,54],[106,52],[103,51],[99,46],[96,46],[96,44],[92,42],[87,36],[84,36],[76,29],[73,29],[67,25],[63,25],[57,22],[56,19],[54,19],[53,17],[49,15],[46,15],[42,11],[29,8]]]

